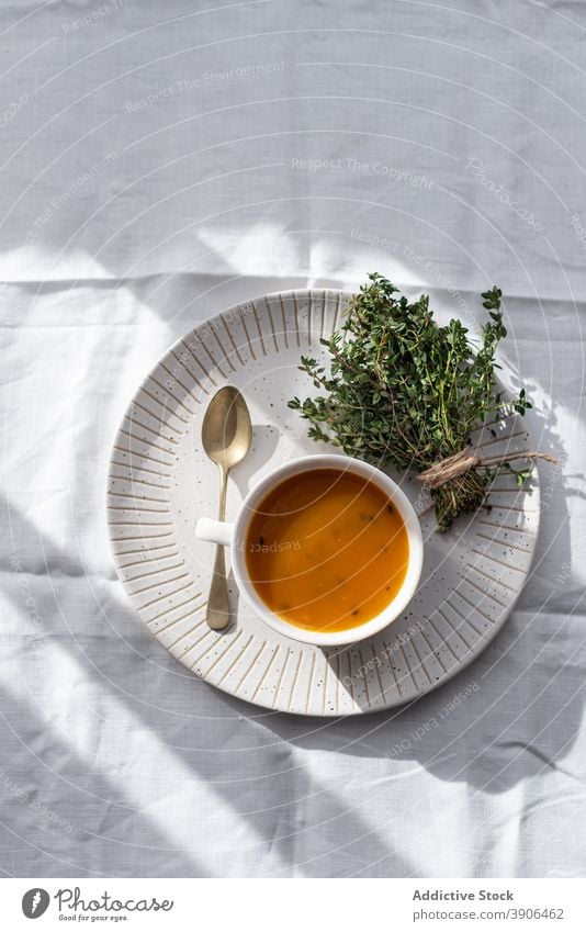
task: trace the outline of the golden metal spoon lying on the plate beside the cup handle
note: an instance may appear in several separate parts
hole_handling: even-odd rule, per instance
[[[207,406],[202,425],[203,449],[219,468],[218,520],[226,519],[226,486],[228,472],[246,457],[252,425],[247,404],[238,389],[226,385],[215,393]],[[214,631],[222,631],[229,624],[228,582],[224,548],[216,544],[216,555],[207,599],[206,621]]]

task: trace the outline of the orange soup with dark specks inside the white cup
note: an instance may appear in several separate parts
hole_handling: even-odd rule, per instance
[[[370,621],[397,595],[408,560],[397,507],[348,470],[283,480],[248,526],[246,563],[257,594],[275,615],[312,631]]]

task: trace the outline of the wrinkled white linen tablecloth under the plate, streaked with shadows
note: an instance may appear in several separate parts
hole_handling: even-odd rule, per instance
[[[3,4],[5,875],[584,875],[585,33],[531,0]],[[286,718],[148,637],[105,468],[194,322],[371,270],[472,329],[500,285],[564,467],[478,662],[393,714]]]

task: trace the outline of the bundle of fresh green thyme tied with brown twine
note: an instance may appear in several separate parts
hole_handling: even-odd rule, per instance
[[[495,353],[507,335],[502,292],[493,288],[482,296],[489,319],[476,348],[460,321],[435,323],[426,295],[409,304],[390,281],[370,274],[348,302],[341,328],[322,340],[329,372],[301,358],[300,369],[324,394],[289,402],[311,423],[314,440],[374,465],[416,470],[430,490],[440,531],[481,507],[498,473],[512,473],[522,485],[530,470],[515,470],[511,460],[557,462],[545,453],[483,458],[470,449],[471,435],[487,422],[531,407],[525,389],[506,403],[497,390]]]

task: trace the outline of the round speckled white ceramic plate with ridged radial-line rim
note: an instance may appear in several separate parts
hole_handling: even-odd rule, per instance
[[[539,527],[537,470],[523,490],[512,478],[498,479],[492,509],[459,519],[447,535],[435,532],[428,513],[416,597],[386,631],[354,648],[324,650],[273,632],[246,610],[234,586],[232,628],[209,629],[213,546],[194,535],[198,518],[215,517],[217,508],[216,467],[201,446],[206,404],[218,388],[233,384],[252,416],[250,453],[229,481],[229,518],[266,471],[329,449],[307,439],[306,422],[286,402],[311,392],[297,368],[300,355],[322,356],[319,338],[339,325],[345,297],[316,290],[270,294],[187,334],[136,392],[110,463],[108,516],[116,568],[148,630],[214,686],[303,715],[391,708],[462,670],[505,622],[527,577]],[[487,456],[530,448],[517,416],[489,425],[477,440]],[[416,482],[398,481],[421,510]]]

